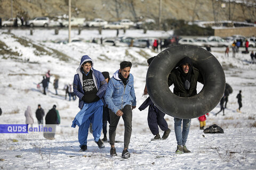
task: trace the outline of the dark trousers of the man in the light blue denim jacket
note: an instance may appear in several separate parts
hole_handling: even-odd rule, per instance
[[[132,134],[132,108],[131,105],[124,106],[121,111],[124,113],[122,118],[124,120],[124,148],[129,147]],[[110,125],[109,125],[109,143],[115,145],[116,127],[120,117],[109,109]]]

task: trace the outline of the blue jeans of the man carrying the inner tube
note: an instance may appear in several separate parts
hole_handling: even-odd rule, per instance
[[[183,120],[183,128],[181,131],[182,120]],[[175,136],[176,136],[178,145],[181,145],[181,146],[186,145],[190,123],[191,123],[191,119],[174,118],[174,131],[175,131]]]

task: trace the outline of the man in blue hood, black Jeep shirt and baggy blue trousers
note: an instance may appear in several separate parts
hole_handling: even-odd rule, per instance
[[[107,89],[107,82],[101,72],[93,69],[92,59],[84,55],[74,76],[73,90],[79,98],[78,107],[81,109],[77,113],[71,127],[78,129],[78,141],[81,149],[87,150],[87,136],[90,123],[92,123],[94,141],[100,149],[105,148],[100,140],[102,130],[102,97]]]

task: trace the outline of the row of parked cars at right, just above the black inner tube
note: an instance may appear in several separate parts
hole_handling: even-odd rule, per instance
[[[234,41],[242,41],[242,46],[245,46],[246,39],[249,41],[249,47],[256,47],[255,45],[255,37],[246,38],[241,35],[234,35],[231,37],[221,38],[218,36],[210,36],[210,37],[199,37],[199,38],[181,38],[178,44],[190,44],[196,45],[200,47],[226,47],[231,46]]]

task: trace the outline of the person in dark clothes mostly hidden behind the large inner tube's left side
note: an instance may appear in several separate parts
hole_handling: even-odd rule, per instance
[[[148,66],[154,60],[154,58],[155,58],[155,56],[151,57],[147,60]],[[143,95],[148,95],[147,86],[145,86]],[[149,126],[151,133],[153,133],[153,135],[155,135],[155,137],[151,140],[161,140],[161,137],[159,135],[158,126],[160,127],[160,129],[162,131],[164,131],[162,140],[167,139],[169,137],[171,130],[168,128],[168,124],[164,119],[165,114],[154,105],[154,103],[151,101],[150,97],[148,97],[142,103],[142,105],[139,107],[139,110],[142,111],[145,108],[147,108],[148,106],[149,106],[149,108],[148,108],[148,126]]]

